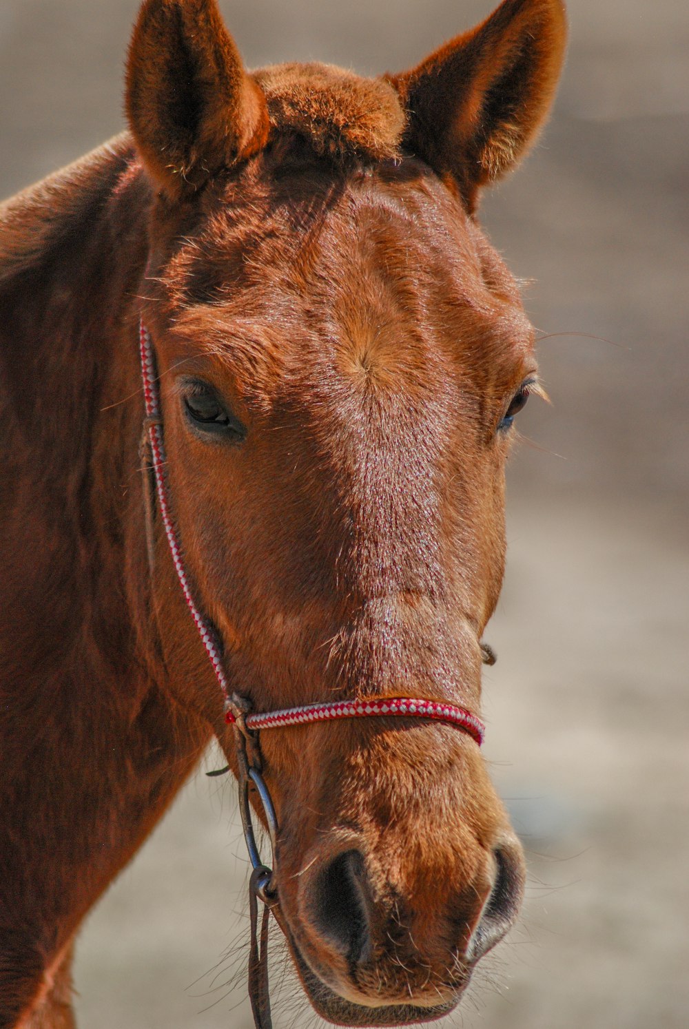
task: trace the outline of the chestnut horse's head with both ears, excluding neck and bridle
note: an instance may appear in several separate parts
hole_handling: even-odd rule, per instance
[[[564,34],[559,0],[505,0],[409,72],[249,73],[213,0],[143,4],[127,108],[173,517],[228,680],[257,711],[399,695],[479,710],[512,422],[538,386],[476,207],[537,135]],[[170,688],[231,754],[154,535]],[[372,719],[261,746],[281,920],[315,1008],[347,1025],[450,1010],[523,885],[476,742]]]

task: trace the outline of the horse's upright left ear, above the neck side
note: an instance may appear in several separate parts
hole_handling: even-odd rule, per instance
[[[266,99],[215,0],[145,0],[127,63],[127,115],[146,168],[172,200],[265,145]]]

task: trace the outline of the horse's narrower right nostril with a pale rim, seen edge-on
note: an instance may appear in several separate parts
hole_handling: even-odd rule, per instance
[[[524,892],[524,858],[516,837],[505,836],[493,847],[493,885],[464,955],[469,964],[482,958],[512,928]]]

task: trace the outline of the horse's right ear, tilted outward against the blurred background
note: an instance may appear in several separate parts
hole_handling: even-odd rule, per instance
[[[408,112],[405,145],[451,175],[470,210],[479,187],[514,167],[538,135],[565,39],[561,0],[505,0],[417,68],[386,76]]]

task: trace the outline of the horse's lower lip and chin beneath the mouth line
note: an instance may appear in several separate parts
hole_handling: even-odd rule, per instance
[[[321,1019],[336,1026],[406,1026],[418,1025],[420,1022],[435,1022],[454,1010],[463,993],[462,987],[450,1000],[437,1004],[435,1007],[418,1004],[384,1004],[380,1007],[369,1007],[365,1004],[356,1004],[332,990],[310,968],[286,927],[284,927],[284,934],[311,1006]]]

